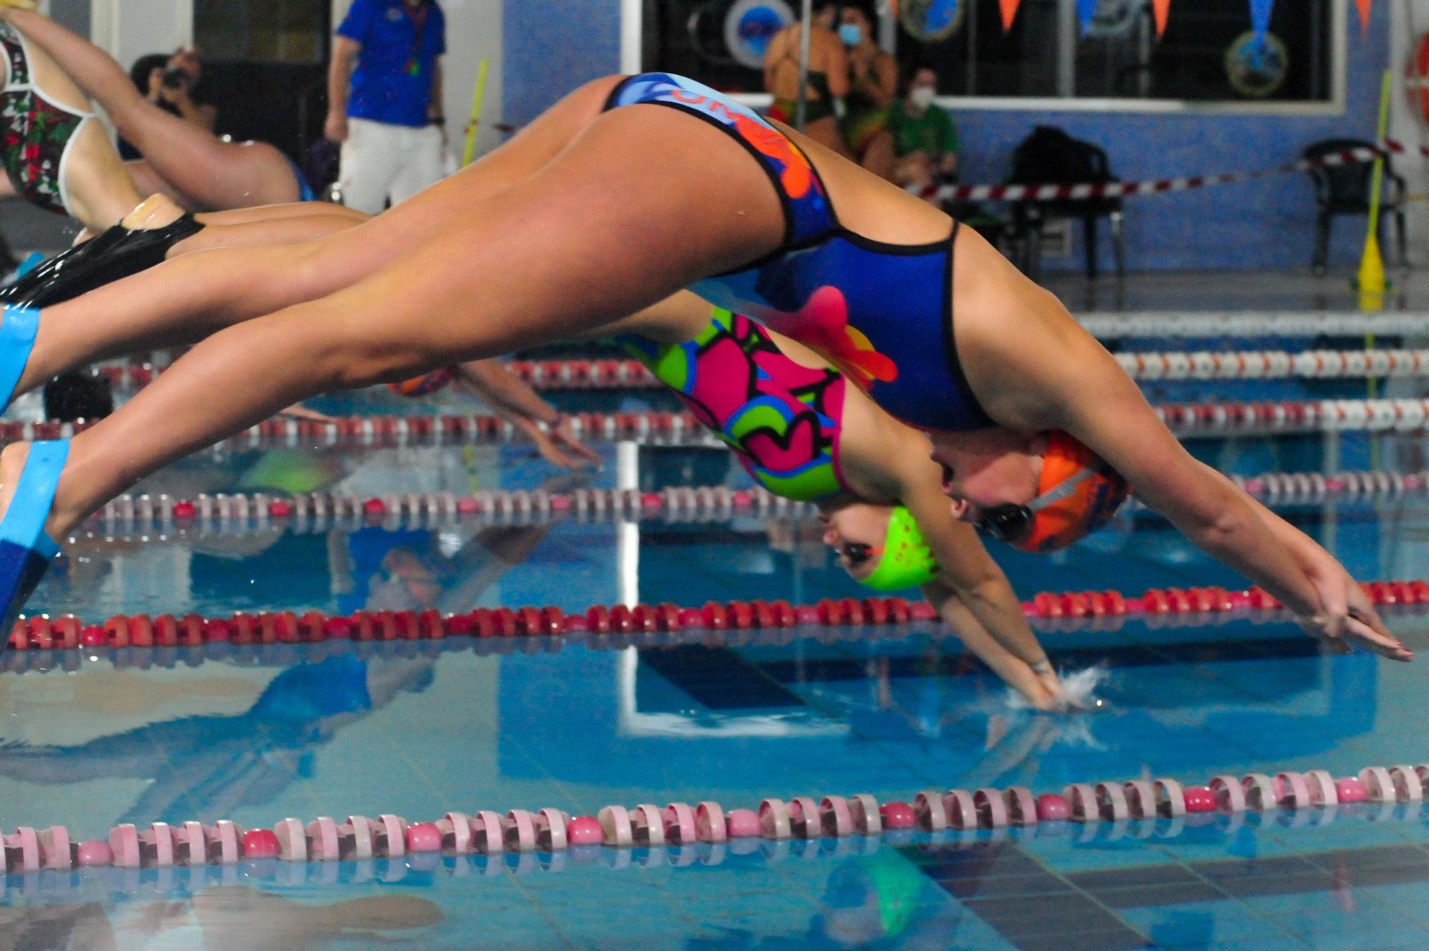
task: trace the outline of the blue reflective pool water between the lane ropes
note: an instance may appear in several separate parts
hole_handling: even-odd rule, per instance
[[[527,447],[206,453],[140,491],[657,490],[747,485],[727,453],[602,444],[572,476]],[[1410,468],[1419,444],[1196,444],[1228,471]],[[1358,577],[1422,574],[1429,505],[1288,514]],[[141,534],[91,524],[36,610],[229,615],[859,597],[817,523],[376,521]],[[1072,551],[997,547],[1022,597],[1235,575],[1147,513]],[[1429,647],[1425,617],[1390,627]],[[1429,674],[1332,655],[1275,618],[1045,631],[1093,710],[1019,708],[927,623],[770,633],[10,653],[0,664],[0,828],[272,827],[284,817],[554,807],[1329,770],[1425,761]],[[636,643],[637,641],[637,643]],[[1086,673],[1092,671],[1092,673]],[[1429,927],[1416,805],[1212,814],[813,842],[366,862],[39,872],[3,880],[16,948],[1396,948]]]

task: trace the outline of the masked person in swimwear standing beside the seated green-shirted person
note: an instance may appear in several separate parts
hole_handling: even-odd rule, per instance
[[[873,39],[873,19],[863,6],[842,6],[839,39],[849,49],[852,80],[845,100],[843,139],[860,166],[887,178],[893,174],[889,107],[897,96],[897,60],[879,49]]]

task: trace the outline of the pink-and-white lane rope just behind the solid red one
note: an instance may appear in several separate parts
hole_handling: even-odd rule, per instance
[[[1403,498],[1429,494],[1429,470],[1396,473],[1385,470],[1349,473],[1268,473],[1232,480],[1248,494],[1270,503],[1313,503],[1326,500]],[[677,485],[657,493],[634,488],[577,488],[570,493],[544,490],[489,490],[474,494],[389,493],[362,498],[344,493],[269,495],[264,493],[200,493],[193,500],[170,495],[120,495],[97,511],[81,533],[94,538],[116,530],[176,531],[219,528],[224,534],[267,531],[274,523],[313,530],[349,524],[383,524],[399,520],[407,527],[443,525],[454,520],[480,518],[492,524],[532,524],[574,517],[579,521],[730,521],[745,517],[800,518],[813,515],[816,505],[775,495],[762,485],[732,490],[727,485]],[[101,525],[94,525],[101,523]]]

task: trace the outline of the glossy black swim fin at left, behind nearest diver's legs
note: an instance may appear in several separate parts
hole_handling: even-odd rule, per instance
[[[191,214],[161,228],[129,230],[116,224],[84,244],[41,261],[33,271],[0,290],[0,304],[50,307],[137,274],[164,260],[179,241],[203,230]]]

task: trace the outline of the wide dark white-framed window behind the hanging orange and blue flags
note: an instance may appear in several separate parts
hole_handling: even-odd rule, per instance
[[[1003,30],[999,0],[899,0],[882,41],[905,71],[930,66],[945,96],[1017,106],[1105,109],[1335,107],[1343,74],[1348,0],[1273,4],[1252,31],[1248,0],[1175,0],[1157,39],[1149,0],[1100,0],[1087,30],[1076,0],[1022,0]],[[800,0],[624,0],[639,20],[639,61],[716,89],[762,87],[759,53],[793,21]],[[629,27],[629,24],[627,24]],[[1046,100],[1063,100],[1062,103]],[[1087,107],[1083,103],[1082,107]]]

